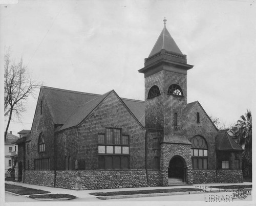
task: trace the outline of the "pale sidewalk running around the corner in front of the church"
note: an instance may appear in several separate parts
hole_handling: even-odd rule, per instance
[[[52,194],[70,194],[78,198],[97,198],[96,196],[89,194],[89,193],[95,193],[95,192],[139,191],[139,190],[175,189],[175,188],[197,188],[197,189],[206,190],[205,193],[210,193],[210,192],[219,192],[220,189],[209,188],[209,186],[252,185],[252,182],[243,182],[243,183],[237,183],[237,184],[209,183],[209,184],[195,184],[193,186],[186,185],[186,186],[169,186],[169,187],[116,188],[116,189],[101,189],[101,190],[69,190],[69,189],[63,189],[63,188],[52,188],[52,187],[45,187],[45,186],[38,186],[38,185],[30,185],[30,184],[25,184],[21,182],[12,182],[12,181],[5,181],[5,183],[10,185],[18,185],[18,186],[23,186],[27,188],[38,189],[38,190],[45,190],[45,191],[51,192]],[[186,192],[186,194],[187,193],[188,192]],[[195,193],[202,193],[202,192],[201,191],[190,192],[190,194],[195,194]],[[160,196],[160,195],[181,195],[181,194],[180,192],[179,194],[170,194],[170,193],[148,194],[148,196]],[[123,197],[123,198],[127,198],[127,197]]]

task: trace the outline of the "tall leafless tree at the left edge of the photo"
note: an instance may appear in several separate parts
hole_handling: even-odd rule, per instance
[[[20,114],[26,111],[25,102],[29,95],[34,97],[36,88],[39,84],[32,81],[23,64],[23,59],[16,63],[10,59],[10,49],[5,54],[5,117],[8,123],[5,130],[5,141],[7,131],[13,118],[16,115],[18,118]]]

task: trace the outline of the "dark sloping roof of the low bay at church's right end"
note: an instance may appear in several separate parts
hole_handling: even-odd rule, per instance
[[[231,138],[226,131],[219,131],[216,137],[217,150],[237,150],[243,149]]]

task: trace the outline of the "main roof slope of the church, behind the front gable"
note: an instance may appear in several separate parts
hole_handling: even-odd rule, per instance
[[[71,120],[71,116],[73,116],[79,108],[88,103],[87,106],[90,106],[86,108],[86,110],[84,110],[84,114],[87,114],[90,108],[97,104],[97,101],[100,100],[97,98],[104,98],[103,96],[107,94],[106,93],[104,95],[98,95],[82,93],[79,91],[59,89],[47,86],[41,86],[40,92],[44,94],[46,98],[47,105],[49,106],[53,118],[53,122],[55,124],[62,124],[63,126],[64,124],[66,124],[65,127],[62,126],[63,128],[66,128],[68,126],[67,124],[73,125],[73,123],[76,123],[75,120]],[[139,122],[144,126],[144,101],[126,98],[121,98],[121,100],[132,111],[137,120],[139,120]],[[69,122],[67,122],[68,120]]]

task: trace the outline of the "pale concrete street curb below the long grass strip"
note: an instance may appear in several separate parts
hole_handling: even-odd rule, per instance
[[[246,189],[246,188],[244,188]],[[251,189],[252,188],[248,188]],[[157,196],[169,196],[169,195],[189,195],[189,194],[199,194],[199,193],[218,193],[218,192],[234,192],[233,189],[227,190],[212,190],[212,191],[190,191],[190,192],[169,192],[169,193],[151,193],[151,194],[138,194],[138,195],[114,195],[114,196],[98,196],[98,199],[124,199],[124,198],[137,198],[137,197],[157,197]]]

